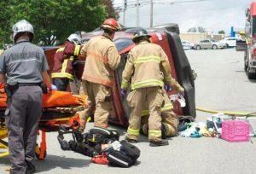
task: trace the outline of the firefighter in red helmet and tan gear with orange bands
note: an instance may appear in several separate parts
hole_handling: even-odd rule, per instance
[[[90,105],[84,112],[79,113],[79,131],[84,131],[86,120],[94,106],[96,107],[94,125],[108,127],[108,116],[112,108],[113,71],[119,67],[120,63],[120,55],[113,44],[113,37],[120,26],[116,20],[107,19],[101,28],[104,31],[102,36],[90,39],[81,50],[81,56],[86,57],[82,86]]]

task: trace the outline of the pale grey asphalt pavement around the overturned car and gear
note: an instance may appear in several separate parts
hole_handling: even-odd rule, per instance
[[[186,55],[198,73],[195,81],[197,106],[256,111],[256,81],[249,81],[243,72],[242,53],[235,49],[188,50]],[[201,112],[197,115],[198,121],[211,116]],[[124,135],[125,130],[120,131]],[[141,136],[141,142],[137,143],[141,149],[137,165],[122,169],[92,164],[88,157],[64,152],[55,133],[47,136],[48,156],[44,161],[36,160],[38,173],[256,173],[256,138],[252,138],[253,143],[230,143],[218,138],[177,136],[169,141],[168,147],[151,148],[147,138]],[[8,158],[0,159],[0,173],[6,173],[8,166]]]

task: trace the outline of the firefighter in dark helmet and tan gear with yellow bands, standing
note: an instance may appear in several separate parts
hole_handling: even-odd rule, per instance
[[[131,93],[127,102],[131,107],[129,127],[125,139],[137,142],[144,102],[149,108],[148,139],[150,146],[166,146],[168,142],[161,138],[160,107],[164,103],[164,82],[170,89],[177,82],[171,75],[171,67],[164,50],[149,42],[150,36],[144,29],[137,30],[132,41],[136,46],[131,49],[122,75],[121,96],[126,96],[128,84]],[[178,91],[183,88],[178,85]]]

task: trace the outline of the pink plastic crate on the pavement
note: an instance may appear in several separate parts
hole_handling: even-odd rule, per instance
[[[248,142],[249,124],[241,120],[225,120],[222,122],[221,138],[228,142]]]

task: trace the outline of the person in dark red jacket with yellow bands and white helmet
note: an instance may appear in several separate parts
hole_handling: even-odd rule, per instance
[[[58,90],[66,91],[70,80],[74,80],[73,62],[76,61],[82,48],[79,34],[71,34],[67,41],[57,49],[51,78]]]

